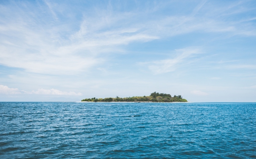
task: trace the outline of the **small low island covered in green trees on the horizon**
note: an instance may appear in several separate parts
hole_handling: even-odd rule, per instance
[[[153,92],[150,96],[133,96],[133,97],[124,97],[120,98],[116,96],[115,98],[89,98],[83,99],[82,102],[187,102],[186,99],[183,99],[181,95],[174,95],[173,97],[170,94]]]

